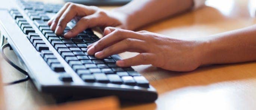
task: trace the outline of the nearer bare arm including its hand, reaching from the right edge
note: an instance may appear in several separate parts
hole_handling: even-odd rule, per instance
[[[151,64],[173,71],[191,71],[202,65],[256,60],[256,25],[207,38],[177,39],[147,31],[109,28],[111,32],[88,46],[98,58],[124,51],[135,57],[118,60],[121,67]]]

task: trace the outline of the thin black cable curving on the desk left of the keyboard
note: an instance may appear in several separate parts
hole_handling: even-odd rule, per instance
[[[4,54],[4,48],[6,47],[10,47],[10,44],[4,44],[3,46],[1,46],[0,48],[0,52],[1,52],[1,55],[3,56],[3,59],[6,60],[7,63],[9,63],[10,65],[12,65],[15,69],[17,69],[18,71],[20,71],[21,73],[23,73],[24,75],[26,75],[26,78],[24,79],[20,79],[20,80],[17,80],[17,81],[13,81],[13,82],[9,82],[9,83],[5,83],[5,85],[12,85],[12,84],[17,84],[17,83],[20,83],[20,82],[24,82],[24,81],[28,81],[30,79],[30,77],[28,76],[28,73],[21,69],[19,66],[15,65],[15,63],[13,63],[11,60],[9,60],[5,54]]]

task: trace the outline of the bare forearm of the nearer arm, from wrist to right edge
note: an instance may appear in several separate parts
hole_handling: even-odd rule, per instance
[[[256,25],[212,35],[202,47],[202,65],[256,60]]]

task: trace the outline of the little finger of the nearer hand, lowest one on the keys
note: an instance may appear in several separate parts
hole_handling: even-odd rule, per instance
[[[153,64],[154,62],[155,62],[154,54],[141,53],[129,59],[118,60],[116,64],[117,66],[120,66],[120,67],[129,67],[129,66],[137,66],[137,65],[148,65],[148,64]]]

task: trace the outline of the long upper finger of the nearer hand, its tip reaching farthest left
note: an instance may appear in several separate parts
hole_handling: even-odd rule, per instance
[[[138,40],[144,40],[145,37],[138,32],[124,30],[124,29],[115,29],[115,31],[101,38],[95,44],[93,44],[90,48],[88,48],[87,53],[92,55],[95,54],[96,51],[101,51],[103,48],[106,48],[114,43],[117,43],[126,38],[133,38]]]

